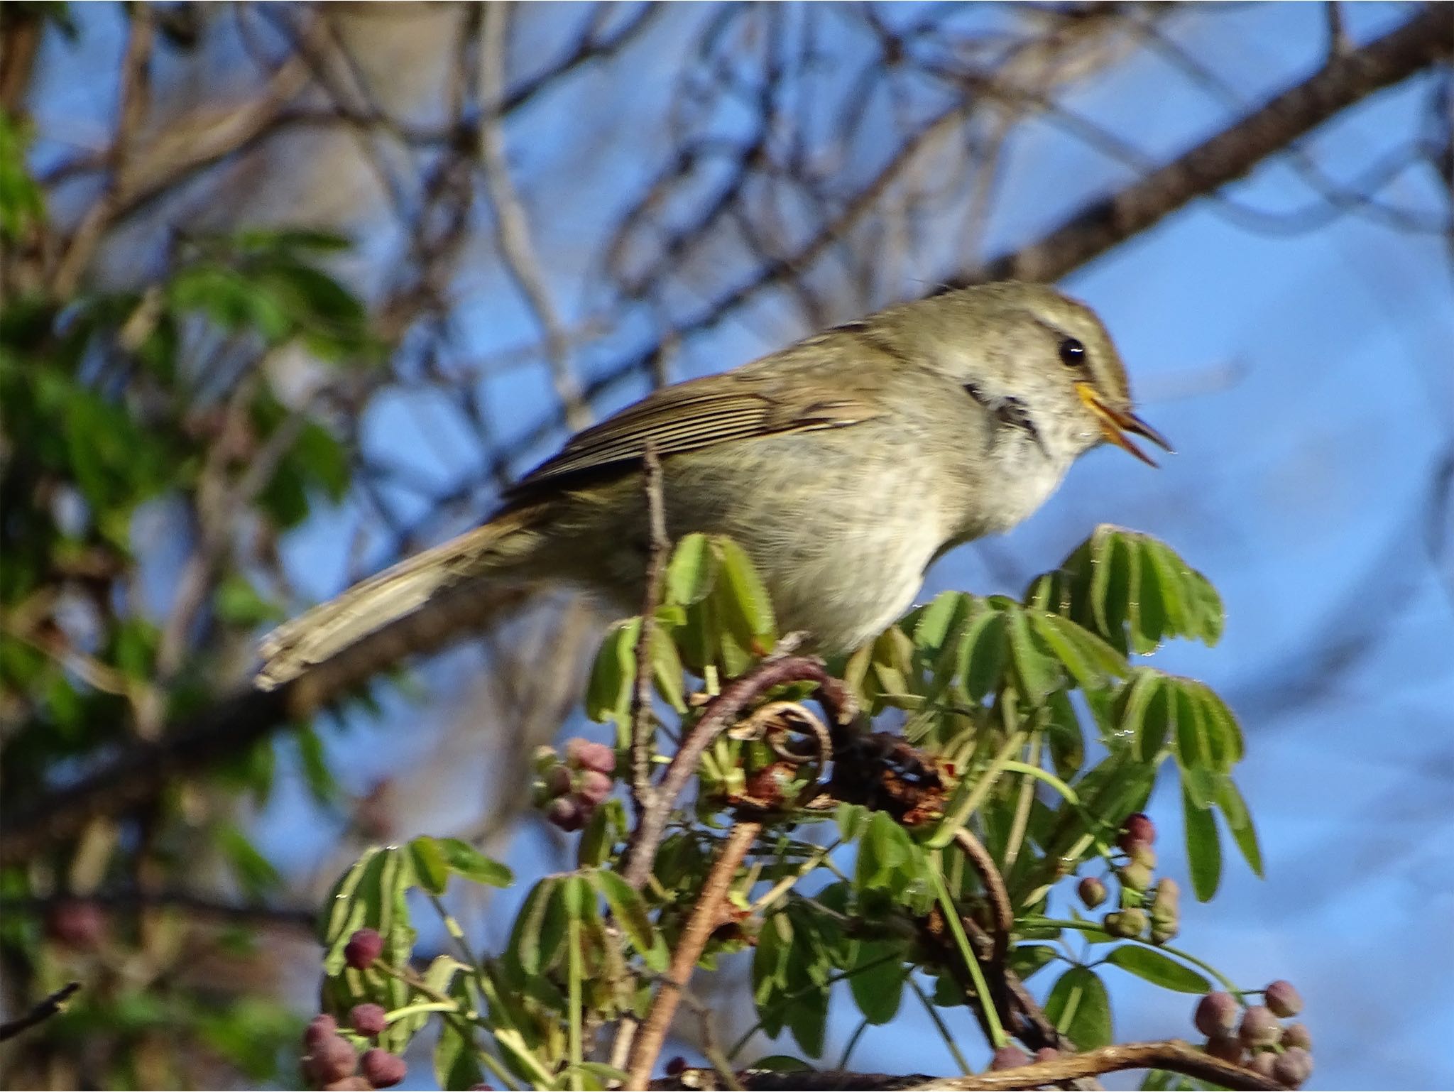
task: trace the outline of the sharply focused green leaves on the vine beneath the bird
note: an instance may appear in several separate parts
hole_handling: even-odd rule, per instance
[[[682,539],[663,583],[650,669],[659,708],[688,731],[702,708],[686,696],[692,678],[710,695],[772,647],[776,627],[760,580],[728,539]],[[628,619],[606,635],[586,696],[592,717],[615,724],[622,749],[640,625]],[[897,711],[906,736],[939,759],[954,784],[942,816],[910,829],[849,803],[827,813],[784,813],[731,893],[742,925],[718,931],[701,965],[715,967],[750,944],[753,1031],[772,1038],[787,1031],[806,1059],[823,1054],[840,986],[865,1028],[893,1021],[906,995],[933,1011],[965,1005],[984,989],[960,920],[984,906],[981,877],[952,846],[955,832],[965,829],[995,858],[1015,909],[1012,970],[1031,979],[1063,964],[1045,987],[1045,1012],[1080,1047],[1112,1040],[1106,967],[1182,993],[1205,992],[1213,979],[1230,987],[1165,936],[1125,935],[1075,909],[1050,916],[1053,893],[1067,875],[1082,867],[1125,867],[1117,833],[1146,804],[1168,759],[1188,801],[1186,851],[1198,897],[1214,894],[1221,871],[1214,810],[1259,867],[1250,820],[1229,776],[1242,756],[1232,712],[1202,683],[1133,659],[1173,637],[1213,643],[1220,628],[1220,601],[1200,573],[1165,545],[1115,528],[1099,528],[1019,601],[945,593],[913,611],[836,669],[869,712]],[[784,688],[768,696],[801,694]],[[726,807],[772,762],[772,752],[753,739],[721,739],[707,752],[695,806],[675,813],[641,894],[615,874],[630,827],[619,801],[609,801],[582,833],[579,868],[531,888],[499,958],[475,961],[464,945],[464,963],[442,957],[457,977],[436,1053],[441,1083],[454,1086],[473,1073],[459,1069],[467,1028],[493,1037],[477,1059],[496,1075],[561,1088],[596,1088],[616,1076],[585,1061],[583,1037],[622,1015],[644,1015],[650,976],[667,965],[720,852]],[[397,886],[422,875],[409,864],[414,851],[379,852],[395,852],[388,872],[395,890],[377,890],[384,875],[377,855],[350,872],[353,890],[375,884],[371,904],[403,907]],[[1150,893],[1122,884],[1120,899],[1140,907]],[[327,936],[324,992],[336,1005],[362,996],[356,981],[345,990],[339,977],[350,974],[337,963],[346,941],[339,913]],[[346,923],[362,920],[374,919]],[[942,923],[938,932],[932,920]],[[391,958],[403,958],[409,936],[395,936]],[[395,1016],[423,1011],[423,996],[406,983],[374,986],[369,996]],[[992,1038],[1002,1035],[990,1028]],[[737,1053],[747,1038],[728,1053],[734,1064],[743,1061]],[[947,1041],[957,1050],[952,1037]],[[808,1063],[779,1054],[752,1064]]]

